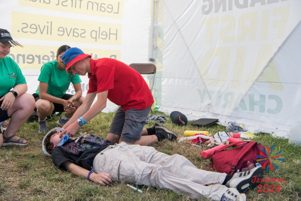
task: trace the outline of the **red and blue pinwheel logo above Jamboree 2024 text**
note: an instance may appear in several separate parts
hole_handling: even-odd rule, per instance
[[[257,155],[259,159],[256,161],[260,163],[261,167],[268,172],[268,170],[278,169],[279,167],[277,165],[280,164],[281,161],[284,161],[284,159],[280,158],[281,150],[277,152],[277,150],[274,150],[275,145],[271,147],[266,147],[266,150],[262,148],[262,151],[260,151],[260,154]],[[275,153],[275,154],[274,154]],[[276,165],[277,164],[277,165]]]

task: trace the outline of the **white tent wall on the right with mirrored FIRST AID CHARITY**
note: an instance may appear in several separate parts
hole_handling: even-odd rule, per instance
[[[160,110],[266,132],[301,120],[301,1],[156,3]]]

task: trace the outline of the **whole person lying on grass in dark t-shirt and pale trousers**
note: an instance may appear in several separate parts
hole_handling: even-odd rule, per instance
[[[227,175],[197,169],[184,156],[169,156],[154,147],[111,143],[95,135],[60,137],[62,128],[49,131],[42,142],[45,155],[54,165],[77,176],[107,186],[112,181],[146,185],[185,193],[191,198],[210,200],[246,200],[243,192],[259,183],[263,169]]]

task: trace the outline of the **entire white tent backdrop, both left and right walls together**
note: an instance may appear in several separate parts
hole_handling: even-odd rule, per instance
[[[155,99],[166,113],[266,132],[301,121],[299,0],[1,0],[1,8],[0,27],[25,46],[9,56],[29,93],[43,63],[67,44],[127,64],[155,58]]]

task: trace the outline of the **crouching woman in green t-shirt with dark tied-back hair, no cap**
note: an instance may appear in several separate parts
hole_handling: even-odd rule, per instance
[[[45,63],[41,68],[38,78],[40,81],[36,93],[36,112],[39,116],[39,132],[48,131],[46,117],[54,112],[67,112],[57,121],[63,126],[74,114],[75,110],[84,102],[82,97],[81,79],[79,75],[67,73],[62,66],[62,55],[69,49],[68,45],[62,45],[57,50],[56,60]],[[75,94],[66,94],[72,82]]]

